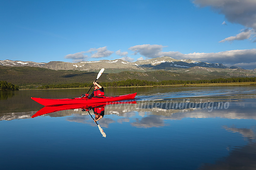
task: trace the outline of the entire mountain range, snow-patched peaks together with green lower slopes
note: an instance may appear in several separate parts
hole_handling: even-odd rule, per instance
[[[3,60],[0,61],[0,80],[22,86],[25,89],[40,85],[90,83],[95,80],[94,78],[101,68],[105,68],[105,71],[100,82],[127,79],[159,82],[163,80],[256,77],[256,69],[245,70],[234,66],[227,67],[223,64],[159,57],[136,62],[121,59],[82,61],[79,63]]]

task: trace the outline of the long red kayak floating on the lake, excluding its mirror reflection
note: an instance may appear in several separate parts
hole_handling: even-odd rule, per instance
[[[43,99],[31,97],[31,99],[35,100],[37,103],[40,103],[44,106],[53,106],[53,105],[64,105],[64,104],[89,104],[89,103],[101,103],[101,102],[113,102],[119,100],[127,100],[133,99],[137,93],[126,94],[122,96],[114,96],[114,97],[92,97],[88,99],[87,97],[77,97],[73,99]]]

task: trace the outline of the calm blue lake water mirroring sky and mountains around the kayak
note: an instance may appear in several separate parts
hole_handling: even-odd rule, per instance
[[[255,85],[105,88],[136,102],[101,106],[99,126],[94,109],[31,118],[31,97],[87,91],[0,91],[1,169],[256,169]]]

